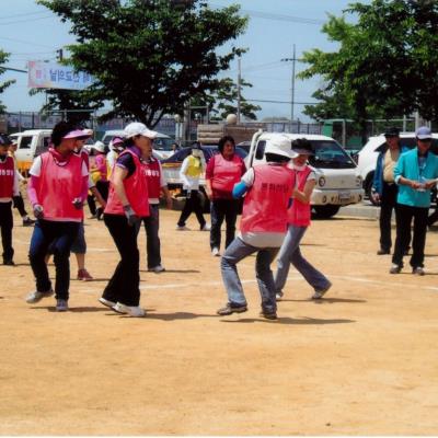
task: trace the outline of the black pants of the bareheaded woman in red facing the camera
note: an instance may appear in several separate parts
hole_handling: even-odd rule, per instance
[[[214,199],[211,201],[210,247],[220,249],[220,228],[223,219],[227,223],[226,247],[234,240],[235,221],[238,219],[239,199]]]

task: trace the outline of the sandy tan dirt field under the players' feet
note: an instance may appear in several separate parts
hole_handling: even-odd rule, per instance
[[[254,257],[240,264],[249,311],[216,315],[219,258],[208,233],[175,231],[177,216],[161,216],[168,270],[141,272],[145,319],[97,303],[117,254],[95,220],[96,280],[71,281],[67,313],[54,298],[26,304],[32,229],[16,220],[18,266],[0,266],[1,435],[437,435],[437,232],[428,275],[392,276],[376,221],[315,221],[303,253],[334,286],[312,302],[291,270],[270,322],[258,318]],[[143,232],[140,247],[145,267]]]

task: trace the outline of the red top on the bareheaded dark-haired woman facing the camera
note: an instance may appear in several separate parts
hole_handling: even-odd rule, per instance
[[[232,197],[231,193],[234,184],[240,182],[243,173],[244,163],[242,159],[234,154],[231,160],[226,160],[221,153],[211,158],[214,162],[214,175],[211,178],[211,188],[215,198],[222,195]]]

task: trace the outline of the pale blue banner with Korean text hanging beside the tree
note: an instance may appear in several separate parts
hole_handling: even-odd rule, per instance
[[[56,62],[28,61],[27,68],[32,89],[83,90],[93,83],[91,74]]]

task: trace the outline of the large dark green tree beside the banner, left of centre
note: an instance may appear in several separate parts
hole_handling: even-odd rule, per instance
[[[194,95],[215,91],[218,72],[244,50],[217,49],[244,32],[239,7],[220,10],[206,1],[38,0],[71,23],[78,43],[69,61],[91,73],[96,103],[153,127],[164,114],[181,113]]]

